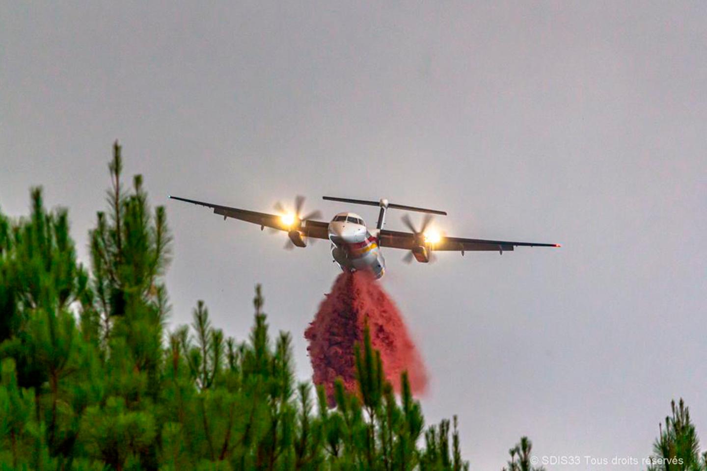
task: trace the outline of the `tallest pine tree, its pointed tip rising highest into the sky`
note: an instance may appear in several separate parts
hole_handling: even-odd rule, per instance
[[[122,148],[117,142],[108,169],[108,213],[98,213],[90,232],[93,306],[101,326],[106,398],[90,410],[98,423],[82,422],[83,439],[92,443],[94,452],[110,455],[113,466],[129,458],[139,460],[144,469],[157,469],[157,433],[132,436],[140,446],[126,450],[103,431],[115,429],[115,421],[147,424],[149,429],[161,412],[163,326],[169,311],[162,277],[170,261],[171,236],[165,209],[159,206],[151,212],[142,177],[134,177],[132,191],[123,188]]]

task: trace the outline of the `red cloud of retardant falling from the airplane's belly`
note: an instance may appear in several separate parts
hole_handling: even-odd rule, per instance
[[[380,282],[365,271],[344,272],[322,301],[319,311],[305,330],[315,384],[323,384],[333,404],[334,381],[356,391],[354,346],[363,340],[368,325],[371,345],[380,350],[385,377],[400,390],[400,374],[408,372],[413,393],[423,393],[427,374],[395,303]]]

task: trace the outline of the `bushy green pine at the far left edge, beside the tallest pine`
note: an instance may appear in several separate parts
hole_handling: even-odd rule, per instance
[[[74,316],[90,297],[88,274],[76,263],[66,210],[45,210],[41,189],[31,191],[31,214],[8,229],[0,224],[4,342],[0,357],[13,359],[19,390],[32,395],[35,465],[71,465],[78,415],[85,406],[83,354],[90,347]],[[12,383],[12,381],[11,381]],[[12,386],[10,386],[12,389]],[[28,461],[25,461],[28,463]]]

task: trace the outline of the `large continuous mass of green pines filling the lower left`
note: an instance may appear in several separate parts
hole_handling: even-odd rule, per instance
[[[259,286],[247,340],[211,326],[201,301],[191,328],[165,333],[165,210],[140,176],[125,188],[122,168],[115,143],[90,275],[66,210],[46,210],[40,189],[29,217],[0,213],[0,469],[466,469],[456,419],[451,458],[448,421],[419,446],[407,375],[398,400],[368,333],[360,390],[337,384],[335,409],[296,383],[291,337],[271,339]]]

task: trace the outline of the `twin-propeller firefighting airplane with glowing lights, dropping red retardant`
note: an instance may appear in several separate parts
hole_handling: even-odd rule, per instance
[[[307,246],[308,239],[329,239],[332,243],[332,257],[339,264],[341,270],[370,270],[375,278],[380,278],[385,273],[385,259],[380,252],[381,247],[408,250],[404,260],[411,262],[414,258],[421,263],[433,260],[433,251],[512,251],[516,246],[559,247],[560,244],[536,244],[534,242],[508,242],[501,240],[462,239],[460,237],[446,237],[438,230],[430,227],[433,214],[447,215],[445,211],[417,208],[415,206],[389,203],[386,199],[380,201],[355,200],[350,198],[335,198],[325,196],[327,201],[341,201],[358,205],[378,206],[378,222],[375,229],[368,229],[361,216],[356,213],[339,213],[329,222],[320,222],[315,219],[322,217],[320,211],[312,211],[302,215],[305,198],[295,198],[294,211],[288,211],[281,203],[276,203],[277,214],[257,213],[245,209],[231,208],[204,201],[194,201],[178,196],[170,196],[175,200],[186,201],[197,205],[206,206],[214,213],[226,217],[233,217],[260,226],[260,229],[270,227],[287,232],[289,240],[286,248]],[[402,217],[404,225],[410,232],[397,232],[383,229],[385,213],[388,209],[399,209],[425,213],[422,225],[416,229],[409,216]]]

